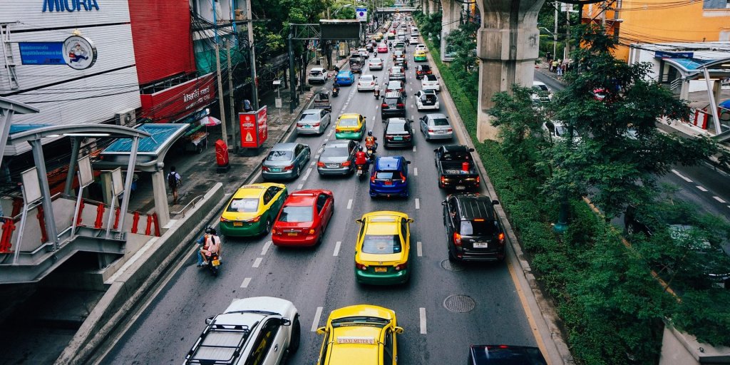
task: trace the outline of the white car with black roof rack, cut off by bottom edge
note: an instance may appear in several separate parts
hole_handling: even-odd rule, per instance
[[[206,318],[185,364],[283,364],[299,348],[299,312],[291,301],[258,296],[236,299]]]

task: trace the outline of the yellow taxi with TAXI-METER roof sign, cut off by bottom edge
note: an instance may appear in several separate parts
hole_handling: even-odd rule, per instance
[[[333,310],[324,335],[318,365],[395,365],[398,361],[396,312],[359,304]]]

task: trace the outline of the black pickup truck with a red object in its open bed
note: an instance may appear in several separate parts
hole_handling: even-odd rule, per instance
[[[444,145],[434,150],[439,188],[466,191],[479,188],[479,172],[472,158],[474,148]]]

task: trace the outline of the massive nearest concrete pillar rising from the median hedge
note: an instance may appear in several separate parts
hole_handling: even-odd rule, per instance
[[[494,93],[510,91],[512,84],[529,86],[538,55],[537,13],[544,0],[478,0],[482,25],[477,31],[479,107],[477,138],[497,139],[489,109]]]

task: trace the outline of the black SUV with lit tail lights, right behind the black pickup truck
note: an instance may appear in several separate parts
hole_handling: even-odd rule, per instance
[[[442,201],[451,261],[504,261],[505,240],[494,206],[479,193],[452,194]]]

